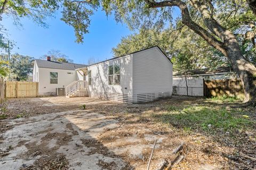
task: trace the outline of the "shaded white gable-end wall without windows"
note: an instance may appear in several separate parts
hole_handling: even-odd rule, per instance
[[[170,97],[171,94],[172,63],[161,50],[154,47],[134,53],[133,103],[154,100],[158,95],[159,98]]]

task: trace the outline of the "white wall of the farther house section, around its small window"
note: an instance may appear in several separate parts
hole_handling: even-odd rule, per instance
[[[58,84],[50,84],[50,72],[58,72]],[[75,70],[48,69],[39,67],[38,78],[39,95],[46,95],[55,93],[56,88],[66,87],[71,82],[76,81],[77,73]]]

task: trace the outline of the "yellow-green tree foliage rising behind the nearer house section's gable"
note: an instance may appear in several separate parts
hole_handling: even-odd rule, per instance
[[[183,68],[182,56],[186,56],[186,60],[191,63],[191,66],[185,67],[187,70],[204,67],[215,69],[229,65],[228,60],[221,53],[186,27],[178,30],[171,27],[164,31],[140,30],[139,33],[123,37],[113,48],[113,53],[115,56],[122,56],[156,45],[171,58],[174,71],[181,71],[180,68]]]

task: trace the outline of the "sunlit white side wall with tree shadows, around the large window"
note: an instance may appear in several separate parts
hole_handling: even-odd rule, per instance
[[[108,66],[118,64],[120,66],[120,84],[108,84]],[[88,66],[91,70],[92,85],[89,85],[89,93],[93,97],[109,98],[113,100],[122,100],[122,96],[128,98],[128,102],[132,97],[132,57],[127,55],[116,58],[114,60]],[[86,76],[86,81],[88,77]],[[106,97],[104,97],[106,96]],[[118,99],[119,97],[119,99]]]

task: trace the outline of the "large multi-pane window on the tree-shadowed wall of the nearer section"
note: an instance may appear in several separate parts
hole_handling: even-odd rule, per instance
[[[108,66],[108,84],[120,84],[120,67],[119,65]]]

